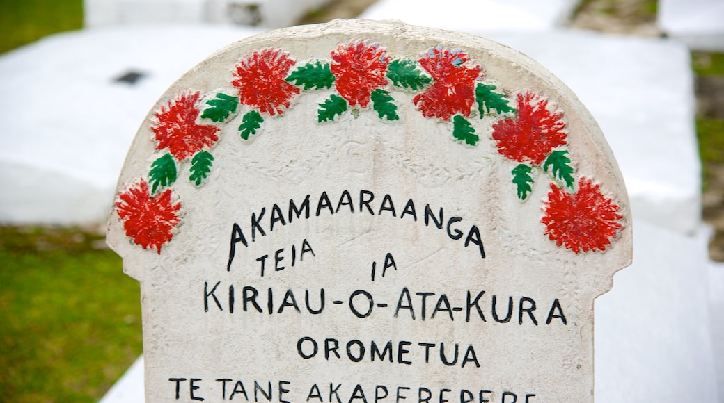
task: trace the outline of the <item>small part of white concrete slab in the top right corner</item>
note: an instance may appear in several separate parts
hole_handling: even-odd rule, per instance
[[[724,51],[724,1],[660,0],[657,25],[693,49]]]

